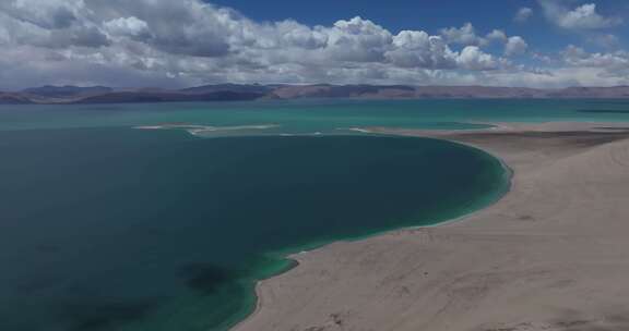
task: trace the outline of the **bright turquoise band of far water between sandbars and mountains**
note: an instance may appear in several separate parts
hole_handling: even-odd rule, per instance
[[[474,128],[521,121],[627,121],[627,100],[295,100],[233,103],[0,106],[0,130],[190,123],[276,124],[254,134],[346,134],[356,126]],[[624,112],[625,111],[625,112]]]

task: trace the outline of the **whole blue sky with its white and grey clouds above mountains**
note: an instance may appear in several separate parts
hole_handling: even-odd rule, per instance
[[[0,0],[0,89],[629,85],[626,0]]]

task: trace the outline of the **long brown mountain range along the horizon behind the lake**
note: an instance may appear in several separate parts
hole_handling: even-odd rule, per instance
[[[0,103],[114,103],[251,101],[260,99],[354,98],[354,99],[543,99],[629,98],[629,86],[568,87],[541,89],[489,86],[407,85],[238,85],[218,84],[185,89],[137,88],[115,90],[93,86],[43,86],[19,93],[0,93]]]

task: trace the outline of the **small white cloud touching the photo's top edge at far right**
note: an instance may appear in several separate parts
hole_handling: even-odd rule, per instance
[[[569,8],[561,0],[538,0],[546,17],[566,29],[601,29],[622,24],[620,17],[606,17],[596,11],[596,3]]]

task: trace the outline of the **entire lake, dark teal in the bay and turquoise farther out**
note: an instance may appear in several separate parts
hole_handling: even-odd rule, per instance
[[[292,266],[286,253],[434,224],[508,188],[477,149],[347,127],[622,121],[626,105],[0,107],[0,330],[226,330],[251,311],[256,280]],[[174,122],[246,128],[132,128]]]

